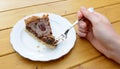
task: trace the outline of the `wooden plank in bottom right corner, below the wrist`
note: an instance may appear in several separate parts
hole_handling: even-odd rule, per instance
[[[70,69],[120,69],[120,65],[104,56],[101,56],[95,60]]]

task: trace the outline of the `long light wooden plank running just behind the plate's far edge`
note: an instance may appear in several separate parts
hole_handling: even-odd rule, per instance
[[[79,10],[79,7],[84,5],[87,7],[101,7],[119,3],[120,0],[102,0],[102,1],[90,1],[90,0],[67,0],[56,3],[50,3],[45,5],[38,5],[33,7],[27,7],[17,10],[11,10],[0,13],[0,29],[12,27],[19,19],[26,15],[40,12],[50,12],[59,15],[66,15],[75,13]],[[48,8],[49,6],[49,8]],[[119,5],[118,5],[119,6]],[[119,8],[119,7],[118,7]]]

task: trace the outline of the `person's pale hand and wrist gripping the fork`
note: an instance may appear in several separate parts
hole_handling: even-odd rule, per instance
[[[106,57],[120,64],[120,35],[109,20],[98,12],[89,12],[85,7],[78,11],[78,35],[87,39],[93,47]]]

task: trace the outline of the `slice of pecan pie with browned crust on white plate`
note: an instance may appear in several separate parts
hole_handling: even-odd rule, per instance
[[[52,35],[52,30],[48,15],[42,17],[32,16],[25,20],[26,30],[36,37],[44,45],[54,48],[57,46],[57,41]]]

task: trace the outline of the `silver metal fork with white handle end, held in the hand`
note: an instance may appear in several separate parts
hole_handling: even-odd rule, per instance
[[[93,12],[94,8],[88,8],[88,11]],[[84,18],[76,20],[71,27],[69,27],[63,34],[61,34],[59,37],[56,38],[56,40],[58,41],[56,44],[59,44],[60,42],[64,41],[67,38],[67,34],[70,31],[71,28],[73,28],[78,21],[82,21]]]

